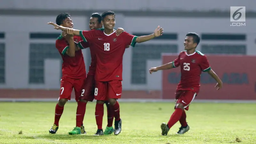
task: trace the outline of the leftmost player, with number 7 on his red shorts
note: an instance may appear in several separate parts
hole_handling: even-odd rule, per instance
[[[56,18],[56,23],[65,28],[73,28],[73,22],[70,14],[61,13]],[[83,84],[86,79],[86,71],[82,50],[76,46],[81,39],[80,36],[74,36],[68,33],[67,36],[60,35],[56,40],[56,48],[62,57],[62,78],[60,84],[60,97],[55,107],[54,124],[49,130],[50,133],[56,133],[59,128],[60,117],[64,110],[64,105],[71,99],[71,92],[75,89],[76,101],[79,100]],[[87,46],[88,47],[88,46]],[[81,125],[80,125],[81,126]],[[79,126],[79,127],[80,127]],[[81,126],[83,127],[83,125]]]

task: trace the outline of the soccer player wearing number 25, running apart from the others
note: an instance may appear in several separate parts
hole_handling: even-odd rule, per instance
[[[149,69],[150,74],[158,70],[177,68],[179,66],[181,71],[180,83],[175,92],[175,111],[167,124],[161,124],[162,135],[167,135],[170,128],[178,121],[180,121],[181,127],[177,134],[188,132],[189,126],[186,121],[185,110],[188,110],[189,104],[199,92],[202,71],[207,72],[217,81],[215,86],[217,90],[222,88],[222,81],[210,67],[207,57],[203,53],[196,51],[196,46],[199,42],[200,37],[196,33],[188,33],[184,41],[186,51],[180,52],[178,58],[170,63]]]

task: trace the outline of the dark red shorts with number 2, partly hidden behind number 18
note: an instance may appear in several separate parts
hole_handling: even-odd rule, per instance
[[[95,79],[94,76],[87,75],[84,82],[84,88],[80,95],[81,100],[93,101],[94,100],[94,90],[95,90]]]

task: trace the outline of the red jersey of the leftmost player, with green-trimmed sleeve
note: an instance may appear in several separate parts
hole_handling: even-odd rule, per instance
[[[74,36],[74,42],[78,43],[81,41],[80,36]],[[75,57],[70,57],[66,54],[67,49],[69,48],[69,44],[63,36],[59,36],[56,40],[56,48],[60,52],[62,57],[62,76],[70,77],[70,78],[83,78],[86,76],[84,57],[82,50],[78,50],[75,53]]]

